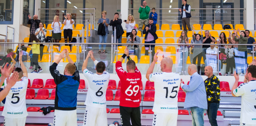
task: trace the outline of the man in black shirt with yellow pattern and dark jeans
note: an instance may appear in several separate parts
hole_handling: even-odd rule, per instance
[[[208,77],[205,81],[207,95],[207,116],[211,126],[218,126],[217,112],[220,106],[220,80],[213,74],[212,66],[205,67],[205,75]]]

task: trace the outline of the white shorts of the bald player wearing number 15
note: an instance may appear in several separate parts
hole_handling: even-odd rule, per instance
[[[152,126],[177,126],[178,113],[156,113]]]

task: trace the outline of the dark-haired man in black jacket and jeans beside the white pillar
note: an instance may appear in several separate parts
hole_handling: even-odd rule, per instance
[[[122,24],[122,19],[118,19],[119,14],[115,13],[114,19],[110,20],[109,25],[112,26],[113,35],[115,35],[115,28],[116,28],[116,39],[118,39],[118,43],[122,43],[122,34],[124,33],[123,29],[120,29]],[[122,46],[122,45],[117,45]]]

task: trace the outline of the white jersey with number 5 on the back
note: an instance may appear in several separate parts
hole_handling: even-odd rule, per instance
[[[10,89],[6,96],[2,116],[6,118],[24,118],[27,117],[26,92],[28,86],[28,77],[22,77]],[[4,81],[6,83],[6,79]]]

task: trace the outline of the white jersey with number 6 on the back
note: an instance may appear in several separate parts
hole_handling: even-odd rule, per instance
[[[104,71],[103,74],[98,75],[88,71],[88,69],[84,69],[83,75],[89,82],[84,105],[106,108],[106,91],[110,77],[109,73]]]

